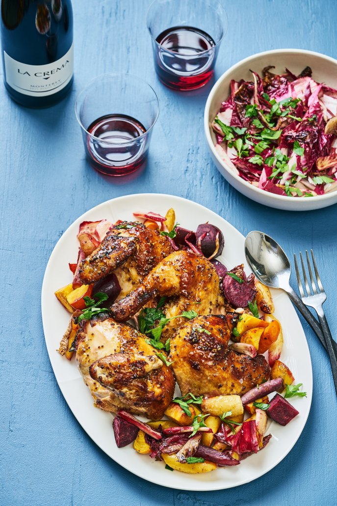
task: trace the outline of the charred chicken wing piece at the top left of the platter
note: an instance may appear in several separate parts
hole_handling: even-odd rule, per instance
[[[122,291],[119,298],[139,285],[173,248],[167,237],[141,223],[122,222],[109,230],[97,249],[83,260],[79,277],[85,284],[94,283],[115,272]]]

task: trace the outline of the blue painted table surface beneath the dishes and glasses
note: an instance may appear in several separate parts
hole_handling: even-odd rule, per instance
[[[238,60],[269,49],[303,48],[336,56],[335,0],[222,1],[229,29],[216,77]],[[203,113],[210,86],[190,96],[161,85],[146,28],[148,6],[148,0],[73,0],[75,82],[72,93],[57,106],[25,109],[0,89],[0,265],[4,281],[0,504],[337,504],[337,400],[327,355],[303,320],[314,376],[307,424],[294,449],[276,468],[237,488],[182,492],[151,484],[151,476],[150,482],[137,478],[89,439],[56,383],[40,314],[47,260],[79,215],[100,202],[130,193],[189,198],[219,213],[243,234],[266,231],[290,255],[313,247],[328,294],[327,319],[332,334],[337,331],[337,207],[282,212],[254,203],[224,181],[204,139]],[[107,180],[90,168],[74,115],[77,92],[88,79],[109,71],[128,71],[145,78],[161,102],[146,171],[130,182]],[[174,483],[173,474],[171,479]]]

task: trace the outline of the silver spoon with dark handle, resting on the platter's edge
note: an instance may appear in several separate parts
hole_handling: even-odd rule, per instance
[[[261,283],[270,288],[280,288],[288,294],[326,349],[325,339],[318,321],[290,286],[292,267],[281,246],[269,235],[254,230],[246,237],[245,255],[252,272]],[[332,341],[332,346],[337,352],[337,344],[334,341]]]

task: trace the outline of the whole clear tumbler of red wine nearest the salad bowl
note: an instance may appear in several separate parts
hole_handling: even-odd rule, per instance
[[[155,0],[147,15],[155,69],[179,91],[206,85],[214,73],[227,15],[217,0]]]

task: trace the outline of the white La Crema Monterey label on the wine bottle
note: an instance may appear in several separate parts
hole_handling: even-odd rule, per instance
[[[74,44],[59,60],[47,65],[28,65],[11,58],[5,51],[5,73],[8,85],[30,97],[46,97],[58,93],[74,72]]]

